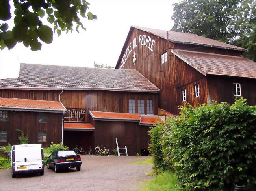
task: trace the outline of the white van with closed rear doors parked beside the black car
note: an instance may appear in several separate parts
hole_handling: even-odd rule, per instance
[[[11,148],[11,175],[40,173],[44,175],[44,153],[42,144],[13,145]]]

